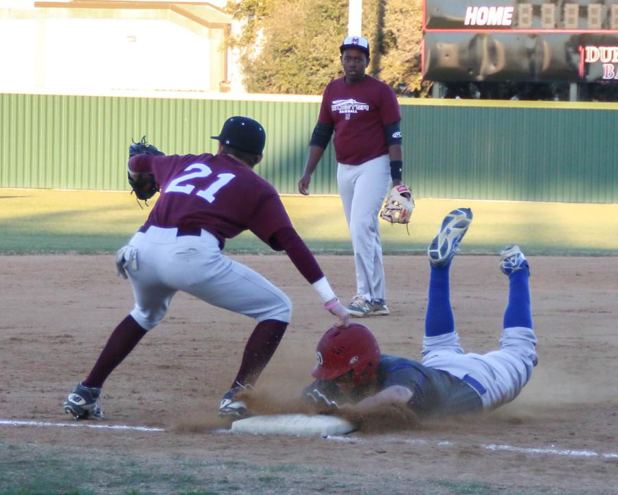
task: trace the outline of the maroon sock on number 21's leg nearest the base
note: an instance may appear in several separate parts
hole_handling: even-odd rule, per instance
[[[244,347],[240,369],[232,387],[236,386],[236,382],[253,385],[258,380],[258,376],[275,354],[287,327],[287,323],[278,320],[260,321],[255,326]]]

